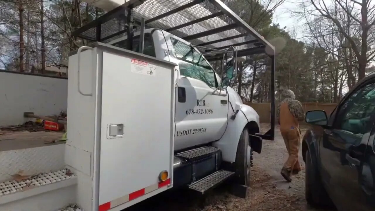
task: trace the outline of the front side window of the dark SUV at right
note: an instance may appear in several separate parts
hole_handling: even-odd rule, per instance
[[[335,128],[360,137],[369,133],[375,121],[375,83],[355,91],[339,109]]]

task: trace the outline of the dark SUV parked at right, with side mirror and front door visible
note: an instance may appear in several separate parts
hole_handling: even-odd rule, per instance
[[[375,74],[361,80],[329,118],[306,113],[302,142],[306,200],[340,211],[375,210]]]

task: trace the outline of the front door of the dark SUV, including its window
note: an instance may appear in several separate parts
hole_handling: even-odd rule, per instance
[[[321,175],[339,210],[374,210],[366,203],[366,194],[360,185],[365,150],[374,124],[374,108],[372,82],[358,87],[338,105],[332,127],[324,130],[320,145]]]

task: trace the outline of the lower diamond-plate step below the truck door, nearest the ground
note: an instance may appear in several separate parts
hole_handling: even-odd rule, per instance
[[[193,184],[189,185],[189,188],[203,194],[205,191],[216,187],[216,185],[219,185],[221,182],[225,181],[233,175],[234,172],[219,170],[199,181],[194,182]]]

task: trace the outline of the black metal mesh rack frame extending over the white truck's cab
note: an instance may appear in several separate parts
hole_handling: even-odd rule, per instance
[[[95,2],[95,1],[94,1]],[[222,51],[236,47],[238,57],[266,53],[271,57],[271,129],[262,137],[273,140],[275,132],[275,48],[221,0],[129,0],[72,35],[97,42],[127,36],[132,49],[133,33],[157,28],[189,41],[209,61],[222,59]]]

